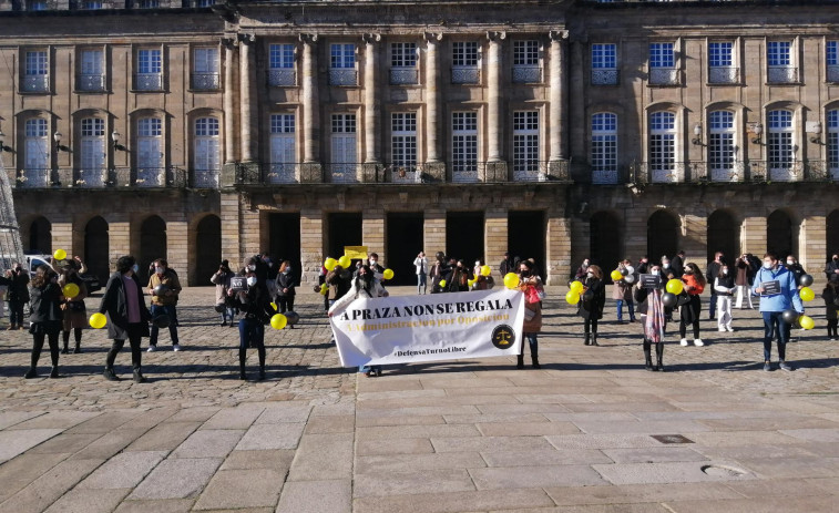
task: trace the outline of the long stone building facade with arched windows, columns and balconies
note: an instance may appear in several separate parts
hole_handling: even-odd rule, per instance
[[[839,252],[827,1],[10,2],[0,153],[30,249],[192,285],[344,246],[704,263]]]

